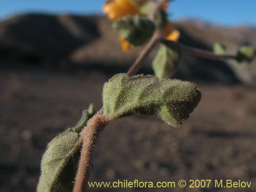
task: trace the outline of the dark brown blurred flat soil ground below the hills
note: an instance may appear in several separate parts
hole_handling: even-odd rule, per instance
[[[0,71],[0,191],[35,191],[47,143],[94,103],[101,107],[99,71]],[[100,135],[91,181],[252,181],[239,188],[126,188],[89,191],[256,191],[256,89],[198,83],[202,100],[173,128],[155,117],[133,116]]]

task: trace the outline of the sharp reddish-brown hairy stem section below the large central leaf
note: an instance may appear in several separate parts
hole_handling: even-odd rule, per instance
[[[86,127],[81,132],[83,141],[79,167],[76,174],[76,182],[73,192],[85,192],[87,189],[90,172],[93,164],[93,153],[96,146],[97,138],[100,132],[108,124],[102,115],[97,113],[89,121]]]

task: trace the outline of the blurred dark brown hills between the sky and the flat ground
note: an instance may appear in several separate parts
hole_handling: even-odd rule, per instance
[[[175,23],[185,45],[211,50],[216,41],[223,42],[231,53],[241,45],[256,46],[256,30],[249,27],[225,28],[196,20]],[[18,15],[0,22],[0,63],[2,66],[81,65],[87,69],[124,71],[141,48],[123,53],[118,34],[104,16]],[[152,54],[152,57],[154,55]],[[150,59],[148,59],[150,62]],[[146,65],[147,73],[152,73]],[[143,71],[142,71],[143,72]],[[256,66],[237,65],[183,55],[176,78],[224,83],[256,83]]]

